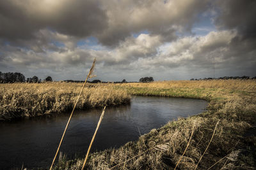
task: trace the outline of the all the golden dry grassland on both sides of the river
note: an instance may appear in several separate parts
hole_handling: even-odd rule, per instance
[[[82,84],[0,86],[0,117],[7,120],[67,111]],[[190,97],[205,99],[209,105],[204,113],[152,129],[138,141],[91,153],[87,169],[256,169],[255,80],[97,84],[84,89],[77,108],[116,106],[129,102],[130,95]],[[83,158],[67,160],[64,156],[54,169],[82,166]]]

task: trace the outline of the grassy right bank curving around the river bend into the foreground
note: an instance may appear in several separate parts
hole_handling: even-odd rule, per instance
[[[90,154],[88,169],[173,169],[180,159],[179,169],[255,169],[256,81],[163,81],[115,88],[140,96],[205,99],[209,106],[204,113],[152,129],[138,141]],[[54,169],[82,165],[83,159],[62,158]]]

